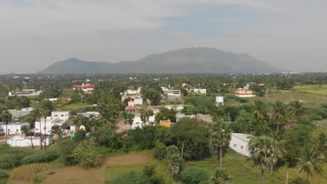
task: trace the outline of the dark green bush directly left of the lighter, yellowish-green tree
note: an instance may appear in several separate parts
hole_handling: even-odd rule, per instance
[[[72,139],[60,140],[57,144],[59,158],[65,165],[76,164],[76,160],[71,156],[78,143]]]

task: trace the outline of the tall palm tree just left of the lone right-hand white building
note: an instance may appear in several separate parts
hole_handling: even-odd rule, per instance
[[[212,153],[217,155],[217,160],[220,161],[219,167],[222,167],[222,152],[223,148],[231,141],[231,129],[224,122],[215,122],[212,124],[210,132],[210,147]]]

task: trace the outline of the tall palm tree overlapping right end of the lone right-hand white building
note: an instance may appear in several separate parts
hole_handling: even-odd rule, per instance
[[[273,164],[273,149],[275,149],[274,139],[266,135],[251,137],[249,141],[249,151],[256,167],[261,168],[261,184],[264,183],[265,169]]]

